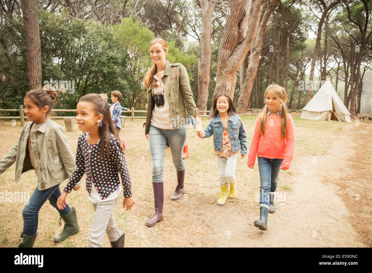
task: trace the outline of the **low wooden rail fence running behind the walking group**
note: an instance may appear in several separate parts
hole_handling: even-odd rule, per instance
[[[245,114],[238,114],[239,116],[255,116],[260,113],[262,109],[260,108],[248,108],[247,112]],[[76,112],[74,109],[52,109],[52,112]],[[291,112],[298,111],[297,109],[290,109]],[[8,119],[8,120],[21,120],[21,126],[23,127],[25,125],[25,115],[23,113],[23,105],[19,105],[19,109],[0,109],[0,112],[19,112],[19,116],[17,117],[0,117],[0,119]],[[203,115],[199,115],[199,117],[208,117],[209,116],[210,110],[204,111],[204,110],[199,110],[199,113],[204,113]],[[146,118],[144,117],[135,117],[135,113],[147,113],[147,110],[134,110],[134,107],[131,108],[131,111],[122,111],[123,113],[130,113],[131,114],[131,119],[134,121],[135,118]],[[207,114],[208,113],[208,114]],[[67,116],[71,117],[71,116]],[[122,118],[125,118],[126,116],[121,116]],[[66,116],[50,116],[52,119],[57,119],[57,118],[66,118]],[[129,117],[126,117],[128,119]]]

